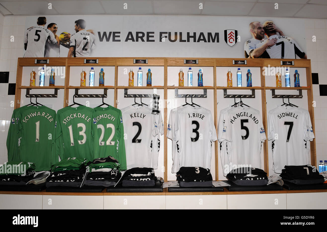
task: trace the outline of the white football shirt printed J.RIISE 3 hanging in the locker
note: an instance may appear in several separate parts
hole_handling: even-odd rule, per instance
[[[174,125],[175,128],[171,127],[171,130],[173,133],[176,131],[177,138],[181,138],[179,167],[210,169],[212,142],[217,140],[211,111],[203,107],[187,105],[176,111]]]

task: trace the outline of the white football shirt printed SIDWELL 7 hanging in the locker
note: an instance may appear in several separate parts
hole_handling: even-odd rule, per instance
[[[273,170],[276,173],[282,173],[285,165],[307,165],[308,140],[313,138],[308,110],[278,106],[268,112],[268,140],[272,140]]]

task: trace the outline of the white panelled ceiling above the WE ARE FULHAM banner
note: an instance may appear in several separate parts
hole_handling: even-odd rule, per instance
[[[275,9],[275,3],[278,9]],[[48,9],[48,4],[52,9]],[[124,9],[127,3],[127,9]],[[203,9],[199,9],[203,3]],[[327,0],[0,0],[3,15],[164,14],[327,19]]]

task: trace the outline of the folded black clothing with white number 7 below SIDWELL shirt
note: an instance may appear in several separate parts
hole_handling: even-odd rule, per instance
[[[323,176],[319,174],[319,171],[312,165],[300,165],[300,166],[284,166],[282,174],[280,175],[286,180],[311,180],[311,179],[323,179]]]

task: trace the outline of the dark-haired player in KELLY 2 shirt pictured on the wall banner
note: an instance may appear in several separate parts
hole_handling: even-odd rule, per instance
[[[86,22],[83,19],[75,21],[76,34],[70,37],[68,57],[87,57],[95,49],[95,35],[86,31]]]

